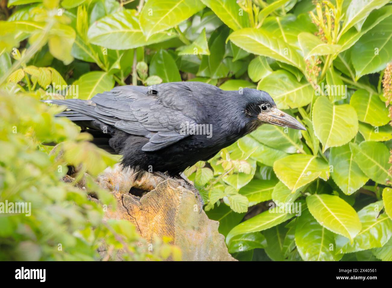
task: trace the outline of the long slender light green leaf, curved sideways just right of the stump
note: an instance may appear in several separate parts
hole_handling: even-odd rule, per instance
[[[287,213],[274,213],[264,211],[240,224],[235,226],[226,237],[226,244],[230,243],[230,239],[236,235],[259,232],[276,226],[280,223],[289,220],[294,214]]]

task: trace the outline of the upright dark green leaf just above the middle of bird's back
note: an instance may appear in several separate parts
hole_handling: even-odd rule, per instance
[[[176,62],[166,50],[161,49],[151,59],[150,75],[159,76],[163,83],[181,82]]]

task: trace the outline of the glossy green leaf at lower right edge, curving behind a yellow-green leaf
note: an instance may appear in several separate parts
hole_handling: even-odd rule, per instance
[[[379,215],[383,208],[383,201],[367,205],[358,212],[362,223],[361,232],[350,243],[349,239],[341,235],[336,236],[336,248],[340,253],[351,253],[382,247],[392,236],[392,220],[387,215]]]

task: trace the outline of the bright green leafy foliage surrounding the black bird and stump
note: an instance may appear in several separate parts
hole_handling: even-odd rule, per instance
[[[234,257],[391,260],[388,2],[9,0],[0,22],[1,145],[9,151],[0,156],[2,199],[37,197],[42,208],[34,217],[0,217],[2,257],[15,257],[16,249],[38,251],[33,259],[91,259],[94,240],[111,232],[83,192],[57,180],[58,163],[39,144],[66,140],[67,159],[94,175],[114,159],[90,146],[80,157],[88,139],[37,100],[89,99],[114,85],[201,81],[267,91],[307,127],[263,125],[186,171]],[[50,84],[79,89],[48,92]],[[301,204],[301,216],[270,213],[272,201]],[[134,241],[122,225],[112,227]],[[75,250],[58,253],[61,241]]]

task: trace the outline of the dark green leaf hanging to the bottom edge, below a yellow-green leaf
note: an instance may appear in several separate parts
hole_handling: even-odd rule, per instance
[[[335,254],[334,235],[321,226],[309,210],[303,211],[295,229],[299,255],[304,261],[339,261],[343,255]]]

